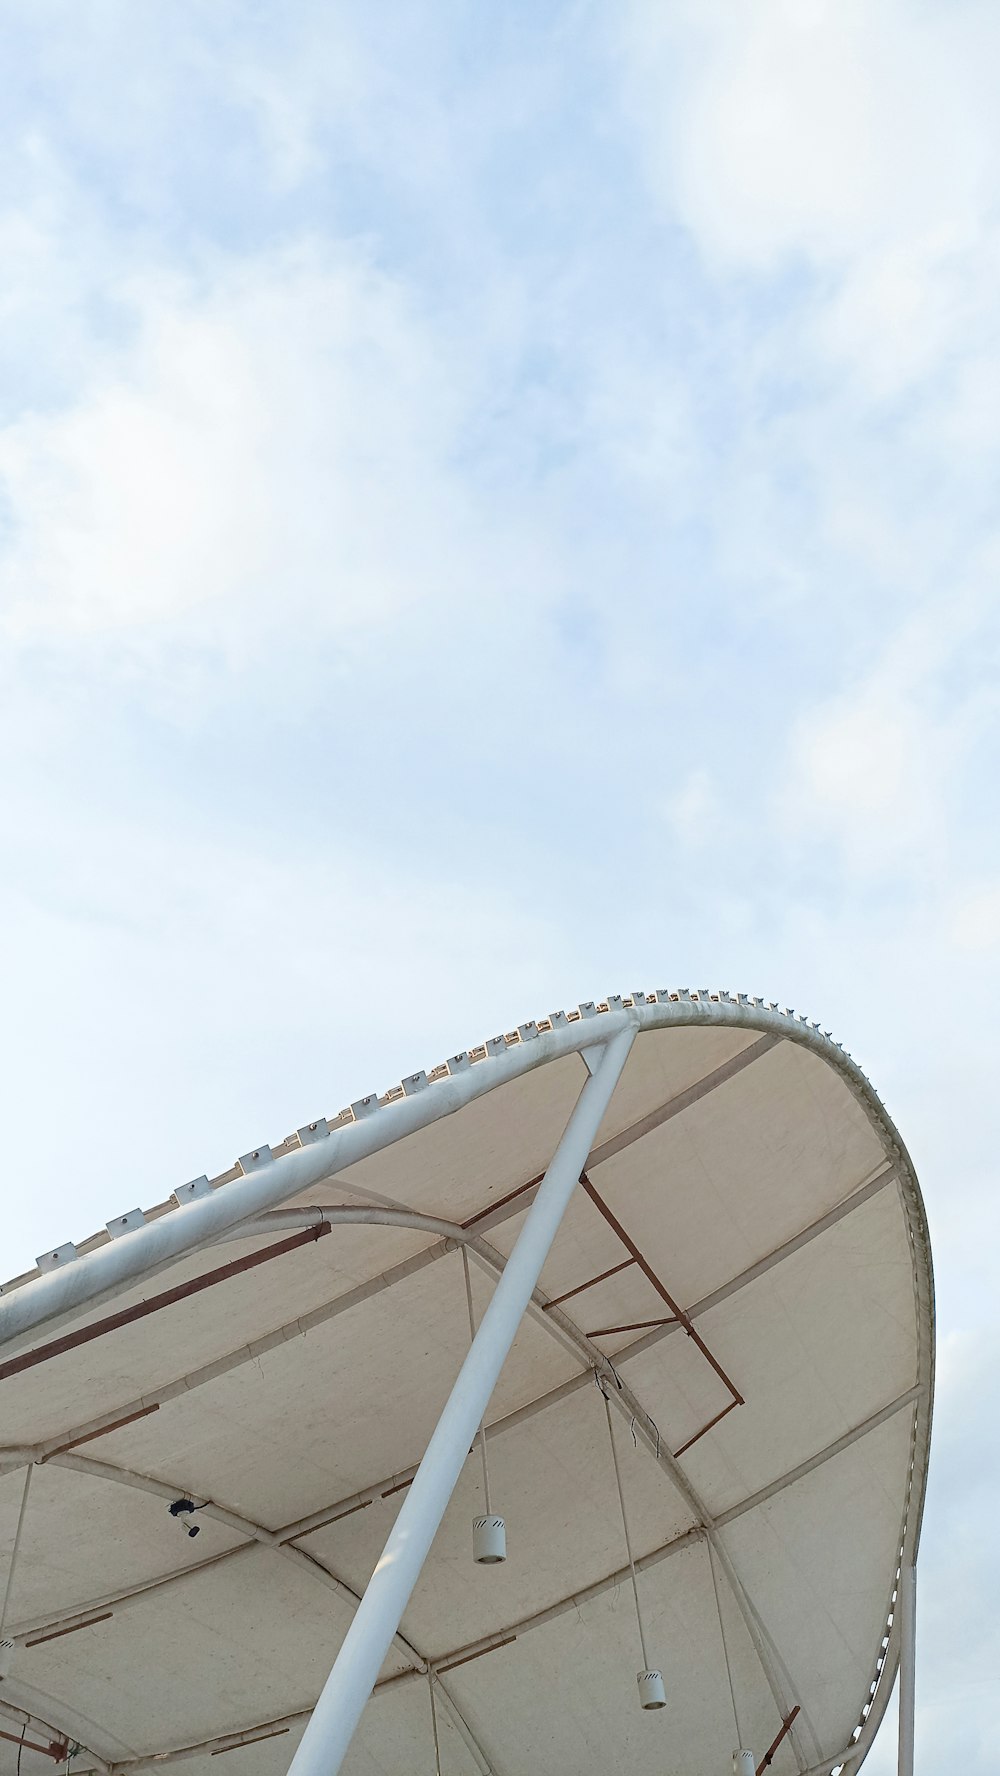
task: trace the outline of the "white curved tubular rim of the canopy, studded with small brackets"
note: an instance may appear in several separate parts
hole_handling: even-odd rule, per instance
[[[215,1179],[199,1177],[178,1186],[169,1202],[158,1204],[147,1215],[131,1211],[119,1218],[117,1227],[112,1220],[107,1233],[83,1241],[80,1249],[66,1243],[43,1254],[37,1270],[14,1277],[0,1289],[0,1346],[14,1352],[34,1343],[43,1327],[53,1328],[76,1318],[130,1284],[156,1275],[187,1252],[236,1229],[240,1222],[393,1146],[403,1135],[451,1115],[474,1098],[547,1060],[606,1043],[627,1025],[638,1032],[721,1025],[773,1034],[808,1048],[840,1074],[876,1130],[886,1158],[895,1163],[913,1256],[920,1385],[899,1561],[902,1565],[915,1559],[934,1398],[934,1273],[920,1185],[899,1130],[874,1085],[831,1032],[790,1007],[746,993],[682,987],[584,1002],[577,1011],[531,1019],[510,1034],[462,1050],[432,1073],[407,1076],[384,1096],[359,1098],[336,1119],[320,1117],[304,1124],[275,1149],[259,1146],[249,1151]],[[895,1590],[883,1634],[888,1645],[872,1671],[872,1691],[854,1737],[844,1748],[844,1767],[854,1771],[881,1724],[899,1666],[899,1613],[893,1606]],[[826,1772],[831,1767],[835,1762],[817,1765],[817,1776],[819,1771]]]

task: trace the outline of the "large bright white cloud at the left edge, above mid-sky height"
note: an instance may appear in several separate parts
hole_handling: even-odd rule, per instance
[[[131,332],[76,398],[0,432],[11,636],[183,625],[242,655],[488,584],[504,549],[449,467],[462,378],[398,282],[306,247],[121,297]]]

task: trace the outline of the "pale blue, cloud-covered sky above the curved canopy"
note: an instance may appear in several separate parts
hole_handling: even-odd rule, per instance
[[[806,1011],[924,1186],[918,1769],[993,1776],[998,9],[0,0],[0,1270],[579,1000]]]

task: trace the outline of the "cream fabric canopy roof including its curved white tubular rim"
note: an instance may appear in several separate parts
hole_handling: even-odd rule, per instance
[[[508,1561],[472,1563],[471,1455],[345,1769],[433,1776],[428,1666],[446,1776],[721,1776],[778,1735],[774,1776],[856,1767],[924,1499],[920,1192],[817,1027],[661,993],[522,1025],[7,1284],[11,1771],[288,1769],[469,1346],[462,1245],[480,1318],[586,1048],[625,1021],[487,1415]]]

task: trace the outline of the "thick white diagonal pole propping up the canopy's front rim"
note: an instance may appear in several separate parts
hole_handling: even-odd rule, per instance
[[[611,1037],[604,1060],[575,1101],[288,1776],[337,1776],[629,1058],[634,1034],[627,1027]]]

